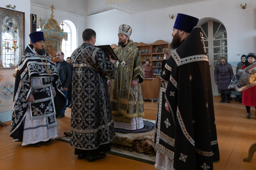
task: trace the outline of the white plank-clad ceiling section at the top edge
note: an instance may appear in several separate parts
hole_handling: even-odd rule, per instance
[[[105,6],[132,14],[200,1],[207,0],[105,0]]]

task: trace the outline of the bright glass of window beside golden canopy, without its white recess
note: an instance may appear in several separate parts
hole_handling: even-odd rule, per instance
[[[62,40],[61,51],[64,53],[65,61],[67,61],[67,57],[70,57],[71,51],[72,51],[72,47],[71,47],[72,33],[71,33],[70,26],[65,22],[63,22],[63,24],[64,24],[63,26],[64,32],[68,33],[68,41]]]

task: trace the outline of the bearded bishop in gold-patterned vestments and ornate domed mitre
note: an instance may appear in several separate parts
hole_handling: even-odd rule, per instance
[[[143,70],[139,49],[130,40],[132,28],[121,25],[118,32],[118,46],[114,50],[119,61],[115,63],[115,78],[108,78],[110,102],[114,126],[119,129],[143,128],[144,108],[140,83]]]

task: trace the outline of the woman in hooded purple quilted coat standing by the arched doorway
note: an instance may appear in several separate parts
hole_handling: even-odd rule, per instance
[[[227,62],[225,57],[220,58],[220,64],[215,66],[214,70],[215,74],[215,83],[218,85],[219,93],[221,94],[220,103],[225,102],[225,94],[226,94],[226,102],[229,102],[231,89],[228,89],[231,79],[233,78],[233,69],[231,64]]]

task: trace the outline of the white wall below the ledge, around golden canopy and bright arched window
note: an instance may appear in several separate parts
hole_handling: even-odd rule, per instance
[[[31,0],[32,2],[32,0]],[[66,4],[67,6],[72,6],[72,1],[70,1],[69,4]],[[49,6],[49,5],[48,5]],[[36,5],[30,5],[30,10],[32,14],[36,14],[37,19],[41,18],[43,21],[41,22],[41,25],[43,26],[45,22],[51,18],[52,11],[51,9],[46,9],[44,7],[36,6]],[[57,7],[56,7],[57,9]],[[60,9],[59,9],[60,10]],[[74,11],[73,11],[74,13]],[[83,43],[82,39],[82,33],[84,29],[86,29],[86,18],[79,17],[76,15],[60,12],[60,11],[54,11],[53,13],[54,19],[56,19],[59,23],[59,26],[62,21],[69,20],[73,22],[73,24],[76,26],[76,33],[77,33],[77,40],[78,40],[78,46]],[[62,26],[60,26],[62,28]],[[37,21],[37,28],[39,28],[39,21]],[[29,28],[30,30],[30,28]],[[77,44],[76,44],[77,46]]]

